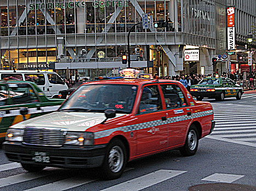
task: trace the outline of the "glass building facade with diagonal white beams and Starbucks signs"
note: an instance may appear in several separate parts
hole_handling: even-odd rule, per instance
[[[249,1],[249,0],[248,0]],[[1,68],[94,78],[125,68],[129,29],[143,14],[169,21],[130,34],[132,67],[158,75],[213,73],[226,52],[226,0],[0,0]]]

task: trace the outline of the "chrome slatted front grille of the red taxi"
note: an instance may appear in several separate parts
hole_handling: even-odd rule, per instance
[[[23,144],[41,146],[62,146],[65,131],[51,128],[25,128]]]

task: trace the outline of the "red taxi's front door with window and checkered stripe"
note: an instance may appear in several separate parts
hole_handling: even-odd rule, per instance
[[[163,110],[158,85],[146,85],[141,90],[136,117],[136,154],[144,154],[167,147],[167,112]]]

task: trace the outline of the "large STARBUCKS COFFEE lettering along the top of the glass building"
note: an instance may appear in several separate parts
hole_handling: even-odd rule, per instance
[[[105,0],[100,0],[100,1],[93,1],[93,7],[94,8],[104,8],[104,7],[115,7],[115,4],[117,5],[117,7],[128,7],[128,1],[105,1]],[[56,2],[55,6],[54,3],[30,3],[29,4],[29,9],[30,10],[36,10],[38,9],[77,9],[77,8],[84,8],[86,7],[86,2],[85,1],[70,1],[70,2]]]

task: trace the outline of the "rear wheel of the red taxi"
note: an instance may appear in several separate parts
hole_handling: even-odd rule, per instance
[[[189,128],[189,132],[187,133],[185,145],[180,148],[180,153],[184,157],[193,156],[197,151],[197,147],[198,147],[198,131],[197,131],[197,128],[194,125],[192,125]]]

